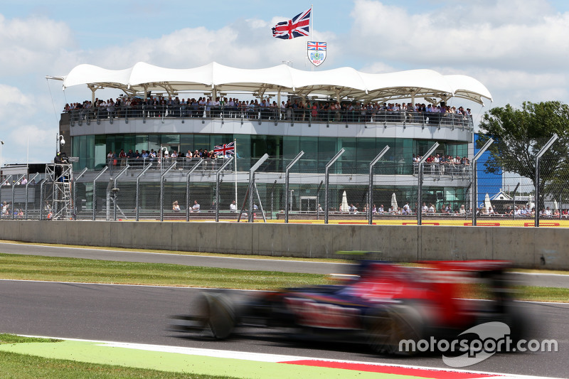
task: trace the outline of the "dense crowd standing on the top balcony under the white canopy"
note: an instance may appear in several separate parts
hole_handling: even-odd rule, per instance
[[[425,103],[383,102],[304,102],[239,100],[235,97],[117,97],[109,100],[95,99],[66,104],[63,112],[70,112],[77,120],[105,119],[109,117],[225,117],[249,119],[280,119],[298,122],[415,122],[469,125],[472,114],[469,108]],[[446,117],[446,119],[445,119]]]

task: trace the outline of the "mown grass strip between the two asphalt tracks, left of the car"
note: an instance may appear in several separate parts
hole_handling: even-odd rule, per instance
[[[326,275],[319,274],[13,254],[0,254],[0,278],[238,289],[278,289],[326,282]]]

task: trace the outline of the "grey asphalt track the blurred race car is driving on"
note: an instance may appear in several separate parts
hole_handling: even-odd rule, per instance
[[[60,338],[151,343],[373,363],[445,368],[440,356],[390,358],[366,346],[290,341],[276,331],[246,330],[228,341],[186,338],[167,331],[172,314],[184,314],[199,289],[0,281],[0,331]],[[555,338],[558,352],[492,356],[469,370],[565,378],[569,361],[569,304],[523,303],[538,315],[539,338]],[[250,334],[248,333],[250,332]]]

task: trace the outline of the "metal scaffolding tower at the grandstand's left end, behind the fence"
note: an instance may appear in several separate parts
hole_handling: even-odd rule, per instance
[[[48,219],[70,220],[73,218],[73,165],[65,163],[46,165],[46,208]],[[49,211],[50,208],[50,211]],[[49,213],[51,213],[49,215]]]

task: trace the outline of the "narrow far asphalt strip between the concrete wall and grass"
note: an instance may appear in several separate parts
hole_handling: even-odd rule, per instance
[[[349,270],[348,264],[331,262],[308,262],[294,260],[266,260],[213,257],[203,255],[179,255],[164,252],[140,252],[134,250],[104,250],[85,247],[58,247],[0,242],[0,252],[46,257],[74,257],[90,260],[115,260],[119,262],[169,263],[173,265],[220,267],[228,269],[254,269],[262,271],[305,272],[308,274],[342,273]],[[514,274],[519,284],[537,287],[569,288],[569,274]]]

